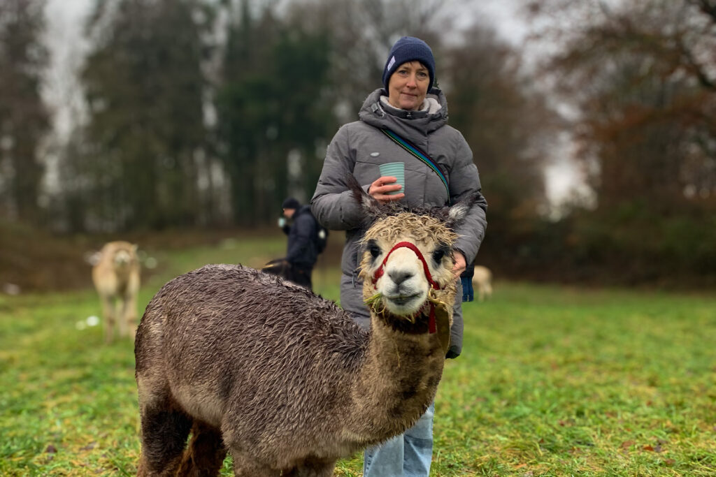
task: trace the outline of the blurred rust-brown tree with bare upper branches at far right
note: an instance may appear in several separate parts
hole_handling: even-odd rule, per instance
[[[535,14],[570,17],[542,32],[561,46],[544,72],[556,73],[580,112],[581,157],[596,160],[599,203],[651,197],[662,211],[684,199],[716,204],[715,4],[610,5],[533,4]]]

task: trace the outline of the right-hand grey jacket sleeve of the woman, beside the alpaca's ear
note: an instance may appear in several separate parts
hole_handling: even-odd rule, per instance
[[[477,196],[463,225],[456,230],[460,237],[455,242],[455,249],[463,252],[465,261],[470,264],[478,255],[480,243],[485,237],[488,203],[482,195],[480,174],[473,162],[473,152],[463,135],[459,132],[458,134],[459,138],[455,141],[455,163],[450,171],[450,199],[455,204],[470,195]]]

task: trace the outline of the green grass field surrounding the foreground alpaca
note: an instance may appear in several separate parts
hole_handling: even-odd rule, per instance
[[[140,312],[180,272],[261,265],[284,240],[153,254]],[[314,282],[338,298],[337,270]],[[91,315],[92,290],[0,296],[0,475],[134,475],[132,345],[104,345]],[[433,476],[715,476],[716,297],[498,280],[493,300],[465,304],[435,415]]]

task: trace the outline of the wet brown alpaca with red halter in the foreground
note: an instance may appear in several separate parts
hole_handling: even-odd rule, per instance
[[[472,200],[402,210],[352,187],[372,223],[360,272],[371,331],[242,265],[171,280],[137,330],[138,475],[217,475],[230,453],[236,476],[332,476],[338,458],[425,413],[449,344],[453,230]]]

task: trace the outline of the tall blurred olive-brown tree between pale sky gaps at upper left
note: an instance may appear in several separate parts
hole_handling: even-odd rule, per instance
[[[90,222],[113,229],[200,223],[207,11],[196,0],[97,3],[82,70],[87,144],[78,144],[90,157],[74,158],[78,173],[94,177],[86,181],[93,191],[85,191],[94,197]]]

